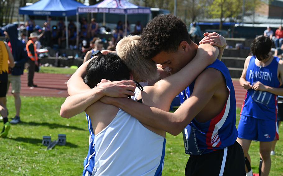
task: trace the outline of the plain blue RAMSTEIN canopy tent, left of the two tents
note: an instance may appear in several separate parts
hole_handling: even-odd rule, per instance
[[[65,16],[66,44],[68,41],[68,16],[77,15],[77,7],[85,6],[75,0],[41,0],[31,6],[19,8],[21,15]],[[78,30],[78,24],[77,24]]]

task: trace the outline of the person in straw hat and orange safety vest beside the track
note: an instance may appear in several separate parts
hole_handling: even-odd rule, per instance
[[[30,37],[29,37],[29,41],[26,44],[26,51],[27,54],[29,56],[29,60],[28,60],[28,86],[29,87],[37,87],[37,85],[35,85],[33,83],[33,77],[35,74],[35,65],[38,66],[38,56],[36,53],[36,46],[35,46],[35,42],[37,41],[38,35],[37,33],[30,33]]]

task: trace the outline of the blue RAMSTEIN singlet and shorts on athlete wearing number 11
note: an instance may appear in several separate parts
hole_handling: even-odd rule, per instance
[[[261,68],[255,64],[255,59],[255,56],[252,56],[250,59],[246,80],[249,81],[251,85],[260,81],[266,86],[278,88],[280,82],[277,77],[277,70],[280,59],[274,57],[269,65]],[[266,91],[256,91],[253,89],[247,90],[240,114],[248,117],[275,121],[277,117],[277,95]]]

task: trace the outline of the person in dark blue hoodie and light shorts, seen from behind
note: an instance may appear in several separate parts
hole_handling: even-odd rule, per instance
[[[20,122],[20,110],[21,110],[21,75],[24,73],[24,65],[29,59],[26,46],[20,40],[18,40],[18,31],[15,24],[7,24],[5,26],[5,37],[7,38],[8,46],[14,56],[15,67],[9,70],[8,74],[8,88],[10,83],[12,84],[12,94],[15,98],[16,116],[10,121],[11,124],[17,124]],[[8,89],[7,89],[8,90]]]

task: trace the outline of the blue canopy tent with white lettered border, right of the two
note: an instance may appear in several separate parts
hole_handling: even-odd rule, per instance
[[[93,6],[78,7],[79,13],[103,13],[103,24],[105,25],[105,13],[125,15],[125,34],[127,33],[128,15],[149,14],[150,7],[140,7],[127,0],[104,0]],[[150,17],[151,18],[151,17]]]

